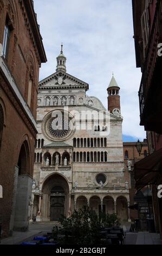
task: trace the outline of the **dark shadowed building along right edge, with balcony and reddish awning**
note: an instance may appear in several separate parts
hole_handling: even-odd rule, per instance
[[[135,164],[137,188],[152,185],[155,229],[162,232],[162,200],[157,187],[162,184],[162,1],[132,0],[137,68],[142,78],[139,89],[140,125],[145,126],[150,156]],[[162,233],[161,233],[162,235]]]

